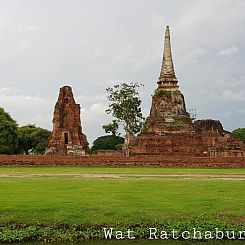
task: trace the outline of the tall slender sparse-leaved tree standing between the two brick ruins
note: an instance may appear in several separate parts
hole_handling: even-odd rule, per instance
[[[137,134],[143,125],[141,100],[138,83],[121,83],[106,89],[109,108],[106,110],[125,130],[125,153],[129,156],[129,144],[133,135]]]

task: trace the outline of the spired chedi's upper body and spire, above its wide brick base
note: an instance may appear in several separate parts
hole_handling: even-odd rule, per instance
[[[167,26],[158,88],[152,97],[150,116],[146,121],[148,133],[186,132],[190,131],[192,120],[186,111],[183,94],[179,91],[174,71],[170,33]]]

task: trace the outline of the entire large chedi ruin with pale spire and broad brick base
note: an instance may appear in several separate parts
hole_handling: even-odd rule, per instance
[[[168,26],[157,85],[144,128],[131,141],[131,155],[245,156],[245,144],[225,131],[219,121],[193,121],[186,111],[174,71]]]

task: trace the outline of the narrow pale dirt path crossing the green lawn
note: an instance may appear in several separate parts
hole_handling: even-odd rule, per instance
[[[245,180],[245,174],[0,174],[0,178],[40,178],[40,177],[73,177],[73,178],[209,178],[222,180]]]

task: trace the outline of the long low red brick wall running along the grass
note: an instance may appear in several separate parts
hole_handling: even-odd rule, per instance
[[[0,166],[160,166],[160,167],[208,167],[229,168],[245,167],[245,157],[162,157],[162,156],[28,156],[1,155]]]

